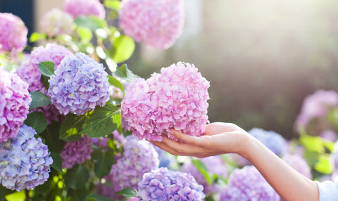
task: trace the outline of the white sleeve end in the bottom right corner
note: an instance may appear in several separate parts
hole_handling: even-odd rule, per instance
[[[332,181],[315,181],[319,190],[319,201],[338,200],[338,176]]]

